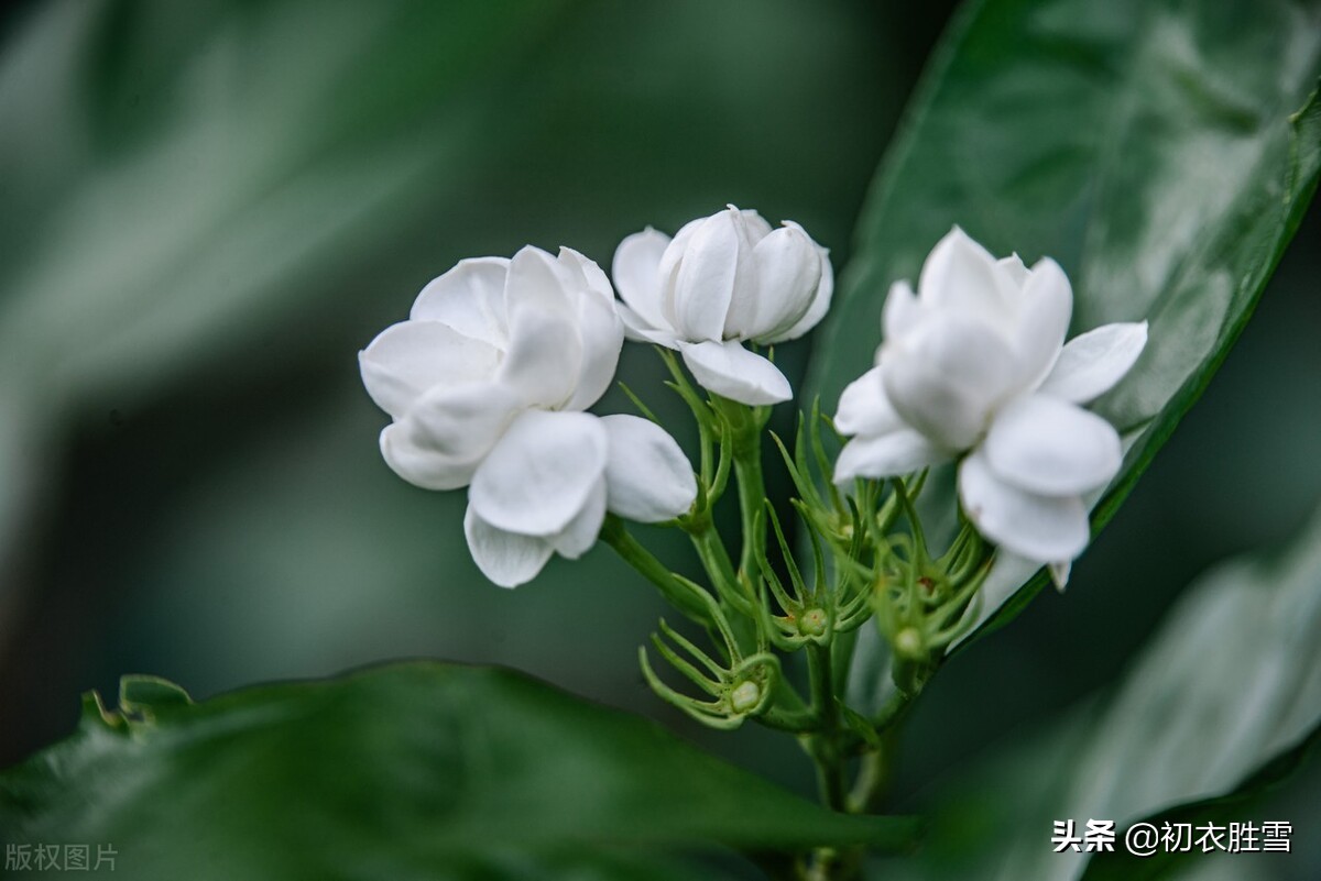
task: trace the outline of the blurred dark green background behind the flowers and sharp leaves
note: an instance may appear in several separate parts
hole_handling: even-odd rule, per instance
[[[531,671],[810,793],[793,744],[712,737],[647,691],[635,646],[664,607],[608,549],[513,592],[485,583],[464,495],[380,460],[355,353],[461,257],[571,244],[608,264],[629,232],[727,202],[803,223],[843,266],[951,7],[4,7],[0,766],[124,673],[205,698],[416,655]],[[900,805],[1103,691],[1196,575],[1308,520],[1318,233],[1313,210],[1069,593],[942,673]],[[786,351],[790,372],[810,348]],[[622,379],[680,418],[650,351],[626,347]],[[674,537],[646,538],[684,564]],[[1321,828],[1318,793],[1305,770],[1279,812]],[[1316,877],[1297,866],[1318,845],[1295,844],[1281,870]]]

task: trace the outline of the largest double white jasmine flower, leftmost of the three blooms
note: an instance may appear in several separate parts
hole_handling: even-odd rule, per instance
[[[382,455],[427,489],[470,484],[468,546],[497,584],[530,580],[552,553],[584,554],[608,509],[653,522],[696,496],[662,429],[583,413],[622,344],[605,273],[576,251],[527,247],[460,261],[359,353],[367,393],[392,417]]]

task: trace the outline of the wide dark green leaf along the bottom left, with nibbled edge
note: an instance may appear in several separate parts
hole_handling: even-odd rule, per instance
[[[637,877],[610,860],[915,836],[913,820],[832,814],[503,670],[404,663],[196,704],[139,686],[132,712],[90,695],[73,737],[0,775],[11,840],[112,843],[133,877],[395,880],[580,864]]]

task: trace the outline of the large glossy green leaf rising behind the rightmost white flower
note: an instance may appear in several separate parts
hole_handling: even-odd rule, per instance
[[[1318,34],[1317,0],[967,4],[881,165],[807,400],[838,400],[869,367],[889,285],[915,280],[951,224],[992,253],[1053,256],[1074,334],[1151,322],[1095,408],[1128,450],[1099,529],[1223,360],[1316,189]],[[952,522],[943,480],[927,495]],[[988,583],[978,636],[1040,591],[1032,575]]]

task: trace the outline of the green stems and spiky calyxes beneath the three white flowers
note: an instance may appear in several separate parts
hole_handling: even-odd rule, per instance
[[[925,472],[838,487],[834,460],[843,438],[816,404],[799,418],[793,451],[770,435],[795,489],[777,508],[766,497],[762,463],[770,408],[707,394],[674,352],[659,352],[699,442],[696,500],[670,525],[688,535],[704,578],[671,571],[608,518],[602,538],[696,625],[680,632],[662,620],[638,652],[642,675],[660,699],[704,725],[733,729],[753,719],[795,735],[818,766],[827,803],[865,806],[878,783],[864,781],[849,794],[844,769],[857,757],[867,768],[888,761],[892,728],[967,632],[991,550],[967,522],[943,553],[929,550],[917,506]],[[737,547],[717,528],[731,483]],[[871,716],[843,698],[852,632],[869,620],[890,646],[897,684],[894,700]],[[799,658],[803,675],[787,677],[781,654]],[[658,670],[657,657],[668,671]],[[799,694],[795,681],[806,681],[807,691]]]

